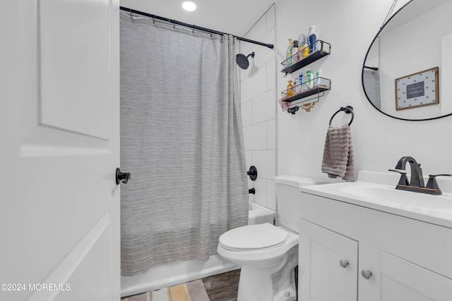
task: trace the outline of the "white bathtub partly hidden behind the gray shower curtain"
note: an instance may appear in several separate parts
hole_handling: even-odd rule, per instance
[[[249,202],[250,225],[256,223],[273,223],[276,211],[270,210],[255,202]],[[227,262],[218,254],[210,255],[207,262],[186,260],[173,264],[154,266],[145,273],[136,276],[121,276],[121,297],[157,290],[187,281],[221,274],[238,269],[239,266]]]

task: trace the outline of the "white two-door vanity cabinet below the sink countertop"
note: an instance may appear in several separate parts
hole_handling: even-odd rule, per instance
[[[299,203],[300,301],[452,300],[452,228],[306,192]]]

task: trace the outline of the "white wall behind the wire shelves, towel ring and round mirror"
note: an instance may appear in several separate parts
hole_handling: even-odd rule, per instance
[[[326,179],[321,160],[328,122],[340,106],[352,105],[351,125],[357,170],[387,171],[401,156],[413,156],[425,175],[452,172],[452,117],[433,121],[399,121],[384,116],[367,101],[362,91],[361,70],[370,42],[379,30],[392,0],[280,0],[277,6],[277,60],[283,61],[287,38],[317,25],[319,39],[331,43],[331,55],[313,64],[332,81],[316,107],[295,116],[277,112],[277,174]],[[396,9],[406,1],[398,1]],[[278,75],[278,92],[287,78]],[[276,101],[276,100],[275,100]],[[344,116],[344,118],[341,118]],[[333,125],[348,122],[336,115]],[[342,181],[342,180],[337,180]],[[396,185],[396,183],[394,183]]]

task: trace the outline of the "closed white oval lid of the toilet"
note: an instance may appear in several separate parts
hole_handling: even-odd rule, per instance
[[[287,232],[270,223],[234,228],[220,235],[220,244],[230,250],[272,247],[284,242]]]

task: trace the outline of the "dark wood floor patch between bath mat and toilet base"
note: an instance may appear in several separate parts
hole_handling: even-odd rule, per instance
[[[240,269],[203,278],[210,301],[236,301]]]

